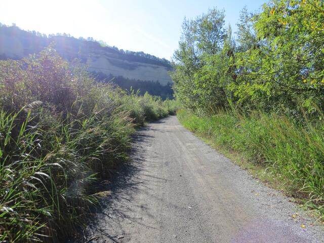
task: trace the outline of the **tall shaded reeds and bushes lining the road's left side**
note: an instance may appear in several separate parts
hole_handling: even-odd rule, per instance
[[[53,49],[0,61],[0,242],[61,242],[109,194],[96,185],[128,159],[134,126],[173,113],[98,84]]]

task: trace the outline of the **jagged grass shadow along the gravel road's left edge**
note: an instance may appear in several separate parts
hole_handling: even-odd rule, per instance
[[[154,121],[152,124],[160,123],[165,123],[164,119]],[[111,183],[105,185],[104,190],[111,191],[111,195],[101,200],[100,207],[96,208],[93,218],[89,219],[89,225],[83,230],[82,238],[72,242],[107,242],[107,239],[110,239],[111,242],[119,242],[118,238],[124,237],[125,234],[122,223],[128,221],[143,225],[140,216],[130,217],[128,215],[128,212],[139,207],[145,211],[144,205],[134,203],[132,194],[141,190],[140,188],[148,188],[151,183],[165,180],[145,173],[144,160],[145,168],[157,166],[153,162],[154,152],[147,152],[147,147],[151,146],[153,141],[153,136],[148,135],[147,130],[152,130],[150,124],[134,134],[130,160],[115,170]],[[149,165],[147,160],[150,161]],[[147,216],[153,217],[152,215]],[[143,226],[151,227],[150,225]],[[107,229],[110,228],[118,228],[122,232],[118,234],[109,232]]]

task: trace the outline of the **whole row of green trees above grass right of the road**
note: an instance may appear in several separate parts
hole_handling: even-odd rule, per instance
[[[298,115],[324,106],[324,2],[272,0],[243,9],[235,41],[217,9],[185,20],[174,55],[177,98],[197,113],[239,107]],[[215,45],[213,45],[215,44]]]

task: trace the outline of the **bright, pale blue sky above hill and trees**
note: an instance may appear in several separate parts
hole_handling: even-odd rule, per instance
[[[266,0],[0,0],[0,23],[45,34],[93,37],[109,46],[171,59],[178,48],[181,24],[225,10],[226,26],[235,31],[239,11],[257,11]]]

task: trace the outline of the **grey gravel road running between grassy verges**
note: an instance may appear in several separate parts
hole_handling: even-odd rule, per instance
[[[289,198],[201,142],[176,116],[137,133],[132,161],[85,241],[324,242],[322,229]]]

